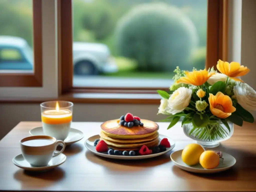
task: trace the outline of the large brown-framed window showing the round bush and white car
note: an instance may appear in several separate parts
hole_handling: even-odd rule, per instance
[[[168,89],[176,66],[203,69],[227,57],[226,0],[69,0],[60,7],[62,93],[154,93]]]

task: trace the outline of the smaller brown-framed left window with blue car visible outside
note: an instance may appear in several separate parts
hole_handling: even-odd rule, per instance
[[[42,0],[0,1],[0,87],[42,87]]]

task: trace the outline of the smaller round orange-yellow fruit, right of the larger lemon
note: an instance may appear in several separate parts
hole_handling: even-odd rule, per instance
[[[214,169],[220,163],[220,157],[214,151],[205,151],[199,159],[200,164],[205,169]]]

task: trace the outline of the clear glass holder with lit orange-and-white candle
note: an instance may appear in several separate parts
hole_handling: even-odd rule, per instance
[[[69,101],[47,101],[40,104],[45,135],[62,141],[67,138],[72,122],[73,105]]]

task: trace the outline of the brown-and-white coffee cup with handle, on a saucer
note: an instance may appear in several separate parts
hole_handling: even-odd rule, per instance
[[[60,151],[56,151],[58,145],[62,145]],[[56,140],[55,137],[36,135],[20,140],[20,148],[24,159],[34,167],[47,166],[52,157],[61,154],[65,149],[65,143]]]

